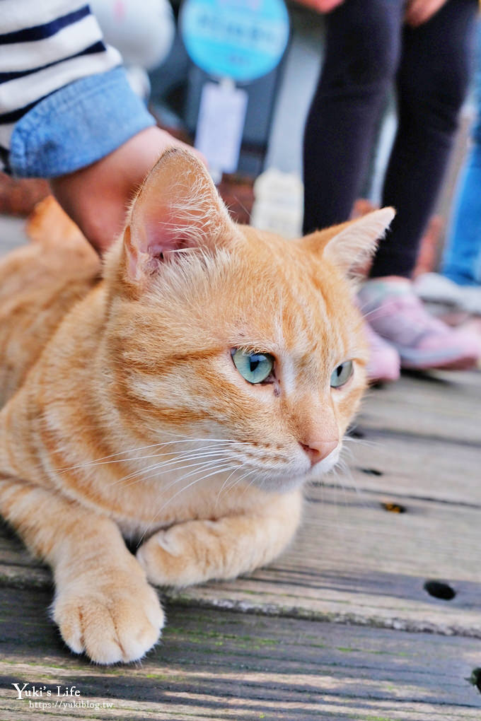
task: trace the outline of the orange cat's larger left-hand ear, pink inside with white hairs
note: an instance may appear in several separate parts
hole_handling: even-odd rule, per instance
[[[143,285],[169,252],[219,246],[232,228],[203,163],[190,151],[171,148],[151,169],[131,206],[124,232],[126,279]]]

